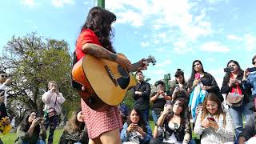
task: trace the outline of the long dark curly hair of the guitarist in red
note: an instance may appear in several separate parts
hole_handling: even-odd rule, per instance
[[[111,38],[114,37],[114,30],[111,24],[116,21],[116,16],[109,10],[95,6],[90,9],[86,18],[86,23],[82,26],[82,30],[90,29],[98,36],[102,46],[113,53],[116,53],[112,46]],[[81,30],[81,32],[82,32]]]

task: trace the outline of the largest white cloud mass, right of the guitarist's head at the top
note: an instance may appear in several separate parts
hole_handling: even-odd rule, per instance
[[[135,27],[151,26],[153,33],[166,28],[170,32],[166,33],[165,38],[170,39],[172,34],[177,34],[179,38],[194,41],[213,33],[211,23],[206,18],[206,9],[199,10],[198,5],[199,2],[189,0],[109,0],[106,9],[117,15],[118,23]],[[163,39],[161,42],[166,41]]]

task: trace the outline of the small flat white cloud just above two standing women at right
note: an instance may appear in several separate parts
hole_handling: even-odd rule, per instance
[[[226,46],[220,45],[219,42],[206,42],[200,47],[202,51],[209,51],[209,52],[229,52],[230,49]]]

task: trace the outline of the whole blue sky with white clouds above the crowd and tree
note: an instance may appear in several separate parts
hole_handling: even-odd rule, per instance
[[[157,65],[144,72],[150,83],[177,68],[189,78],[192,62],[222,84],[230,59],[242,69],[256,54],[256,1],[254,0],[105,0],[117,15],[114,47],[131,62],[153,55]],[[94,0],[2,0],[0,49],[12,35],[31,32],[74,43]]]

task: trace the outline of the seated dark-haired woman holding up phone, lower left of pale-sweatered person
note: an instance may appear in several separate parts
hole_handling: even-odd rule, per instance
[[[29,110],[17,129],[15,144],[45,144],[46,129],[43,126],[43,118],[38,117],[35,110]]]

